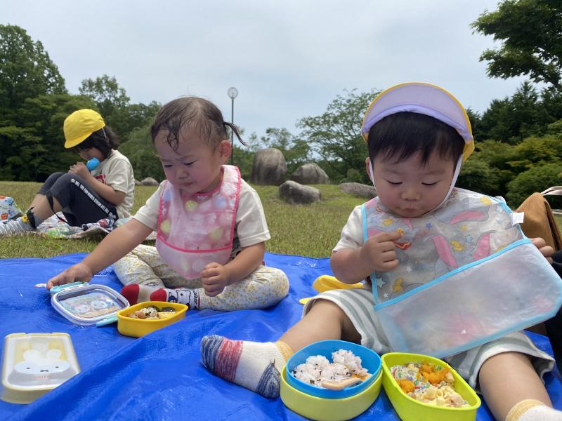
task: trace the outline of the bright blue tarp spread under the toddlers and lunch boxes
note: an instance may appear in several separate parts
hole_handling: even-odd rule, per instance
[[[266,399],[209,373],[200,362],[200,338],[218,334],[229,338],[270,341],[300,319],[299,298],[315,293],[317,276],[331,274],[328,259],[266,254],[266,264],[289,276],[289,296],[264,310],[188,311],[185,319],[143,338],[119,334],[117,325],[77,326],[51,307],[50,295],[34,288],[84,254],[49,259],[0,260],[0,334],[69,333],[81,373],[29,405],[0,401],[0,420],[301,420],[280,399]],[[93,283],[115,290],[121,285],[105,269]],[[530,334],[547,352],[547,338]],[[4,351],[4,341],[1,343]],[[546,377],[556,408],[562,409],[559,373]],[[398,420],[384,391],[358,419]],[[485,404],[478,420],[492,420]]]

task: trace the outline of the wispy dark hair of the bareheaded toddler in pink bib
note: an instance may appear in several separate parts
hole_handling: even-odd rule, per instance
[[[167,131],[166,142],[175,151],[178,149],[181,130],[188,127],[195,130],[201,139],[207,140],[210,147],[215,148],[222,140],[228,139],[227,126],[242,145],[246,145],[240,138],[238,128],[224,121],[221,110],[211,101],[198,97],[182,97],[168,102],[159,110],[150,128],[150,134],[154,142],[159,131]]]

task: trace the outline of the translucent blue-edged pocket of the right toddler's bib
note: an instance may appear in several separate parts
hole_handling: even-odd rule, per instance
[[[521,240],[375,310],[393,350],[443,358],[550,319],[561,305],[560,277]]]

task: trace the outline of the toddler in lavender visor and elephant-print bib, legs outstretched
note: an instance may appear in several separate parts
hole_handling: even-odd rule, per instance
[[[503,201],[455,188],[474,149],[462,105],[438,86],[403,83],[374,99],[361,133],[378,196],[353,210],[330,263],[363,288],[309,300],[277,342],[205,336],[204,366],[277,397],[294,352],[347,340],[446,359],[497,420],[561,420],[541,381],[554,359],[520,331],[561,305],[561,279],[545,258],[553,250],[523,236]]]

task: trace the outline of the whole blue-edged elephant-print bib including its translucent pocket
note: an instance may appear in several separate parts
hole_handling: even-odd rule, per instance
[[[499,199],[454,189],[444,206],[398,218],[378,199],[363,235],[396,231],[400,265],[372,274],[374,309],[397,352],[443,358],[535,325],[562,305],[562,281]]]

